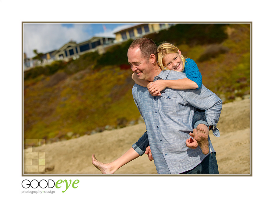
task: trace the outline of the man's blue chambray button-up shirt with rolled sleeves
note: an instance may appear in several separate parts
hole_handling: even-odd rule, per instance
[[[165,70],[153,81],[186,78],[185,73]],[[196,108],[205,110],[209,126],[214,126],[220,118],[222,100],[203,85],[199,89],[174,90],[166,88],[161,96],[153,97],[146,87],[135,84],[132,95],[146,124],[149,145],[158,174],[179,174],[193,169],[207,156],[197,149],[185,145],[192,132],[192,118]],[[209,152],[214,152],[209,140]],[[136,149],[135,149],[136,150]],[[138,149],[137,149],[138,150]],[[136,150],[136,151],[137,151]]]

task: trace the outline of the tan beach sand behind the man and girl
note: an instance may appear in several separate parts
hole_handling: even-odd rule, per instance
[[[250,99],[223,105],[217,125],[220,137],[209,131],[220,174],[251,174]],[[125,153],[146,131],[144,123],[111,131],[25,149],[45,153],[45,172],[26,174],[101,174],[92,164],[94,153],[100,162],[111,162]],[[114,174],[157,174],[153,161],[143,155]]]

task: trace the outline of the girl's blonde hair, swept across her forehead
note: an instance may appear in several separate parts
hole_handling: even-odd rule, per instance
[[[171,43],[162,43],[161,45],[158,46],[157,48],[157,53],[158,53],[158,65],[161,67],[162,70],[168,70],[167,67],[163,66],[163,57],[166,54],[170,53],[179,53],[178,48]],[[183,55],[181,55],[181,59],[183,61],[183,70],[184,71],[184,63],[185,63],[185,58]]]

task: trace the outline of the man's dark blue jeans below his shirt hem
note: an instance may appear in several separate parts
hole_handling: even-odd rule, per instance
[[[219,174],[216,153],[209,153],[203,161],[195,166],[194,169],[180,174]]]

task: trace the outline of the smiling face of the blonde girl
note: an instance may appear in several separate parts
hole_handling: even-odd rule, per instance
[[[183,70],[183,61],[181,59],[181,51],[178,50],[178,53],[166,54],[163,59],[163,66],[167,67],[169,70],[182,71]]]

